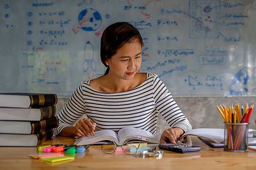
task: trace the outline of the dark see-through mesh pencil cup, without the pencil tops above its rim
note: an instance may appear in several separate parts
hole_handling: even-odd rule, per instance
[[[248,152],[249,123],[224,123],[224,150]]]

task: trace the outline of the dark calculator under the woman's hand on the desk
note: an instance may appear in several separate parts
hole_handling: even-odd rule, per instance
[[[158,148],[178,153],[196,153],[201,150],[200,146],[184,145],[180,143],[160,143]]]

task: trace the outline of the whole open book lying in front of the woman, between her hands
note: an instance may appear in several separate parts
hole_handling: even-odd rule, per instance
[[[124,145],[127,143],[159,143],[159,138],[154,134],[134,128],[124,127],[118,134],[111,130],[102,130],[95,132],[94,136],[78,138],[75,145],[108,144]]]

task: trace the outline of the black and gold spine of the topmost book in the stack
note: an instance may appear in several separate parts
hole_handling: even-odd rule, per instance
[[[56,94],[40,94],[40,95],[29,95],[30,106],[29,108],[42,108],[44,106],[55,106],[58,101]]]

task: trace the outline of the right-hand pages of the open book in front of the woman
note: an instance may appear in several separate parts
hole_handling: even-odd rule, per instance
[[[118,132],[118,139],[120,141],[120,145],[123,145],[127,142],[141,142],[145,143],[159,143],[159,139],[154,136],[154,134],[134,128],[134,127],[124,127]]]

